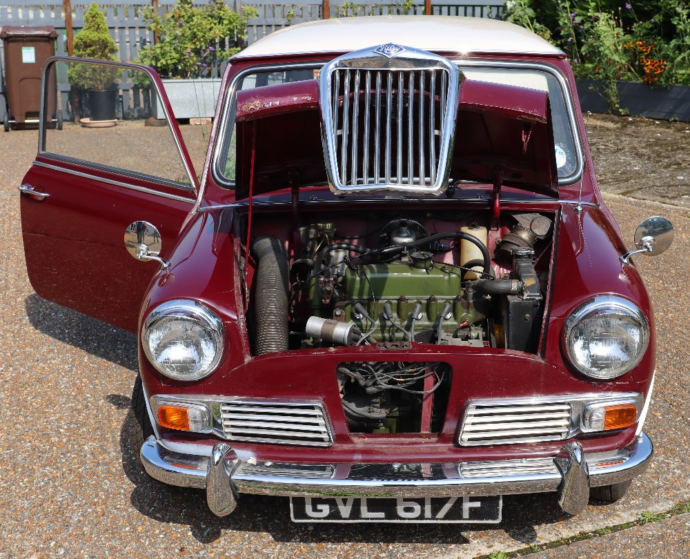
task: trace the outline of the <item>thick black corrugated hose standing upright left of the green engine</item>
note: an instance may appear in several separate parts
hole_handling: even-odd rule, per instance
[[[280,239],[262,235],[252,243],[256,355],[288,349],[288,253]]]

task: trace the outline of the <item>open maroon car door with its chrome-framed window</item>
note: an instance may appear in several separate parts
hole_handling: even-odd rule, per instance
[[[133,259],[124,234],[149,222],[165,257],[198,190],[168,98],[150,68],[66,57],[46,63],[43,88],[39,153],[19,188],[29,280],[41,297],[135,331],[159,264]],[[57,130],[56,110],[75,122]],[[146,126],[152,112],[164,126]]]

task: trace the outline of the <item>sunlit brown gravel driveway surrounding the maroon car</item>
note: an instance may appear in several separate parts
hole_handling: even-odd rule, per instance
[[[690,264],[684,248],[690,242],[690,213],[683,207],[687,186],[673,190],[669,179],[684,177],[673,180],[690,184],[689,144],[667,141],[667,135],[690,134],[684,124],[631,122],[592,116],[589,135],[602,188],[613,192],[605,199],[624,239],[632,239],[635,226],[648,215],[666,215],[676,225],[670,251],[636,259],[652,294],[658,326],[658,377],[645,429],[656,446],[653,464],[617,504],[590,506],[569,518],[560,513],[553,496],[509,496],[506,520],[488,529],[311,527],[290,522],[287,499],[259,496],[242,496],[237,511],[219,519],[206,508],[201,491],[148,478],[128,449],[124,432],[137,374],[135,337],[46,302],[32,291],[24,267],[17,186],[35,154],[37,133],[0,134],[0,556],[472,557],[541,546],[689,500],[685,442],[690,439]],[[642,128],[663,134],[645,137],[652,146],[662,142],[655,147],[667,158],[641,150],[634,157],[641,168],[633,173],[629,154],[620,146],[633,145]],[[184,127],[197,153],[204,147],[199,132],[199,127]],[[664,162],[669,153],[675,158],[673,168]],[[647,199],[616,195],[622,190],[615,181],[619,175],[634,175],[640,188],[625,191]],[[644,188],[657,182],[666,185],[663,192]],[[680,557],[676,553],[687,551],[690,522],[687,514],[676,518],[580,542],[573,545],[573,553],[589,557],[600,549],[611,558],[647,542],[644,549],[649,551],[642,556]],[[666,547],[654,545],[663,538]],[[567,549],[560,548],[560,556],[569,556]]]

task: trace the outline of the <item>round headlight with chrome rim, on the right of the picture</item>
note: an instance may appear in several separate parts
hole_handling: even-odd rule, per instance
[[[563,340],[578,371],[611,379],[624,375],[642,360],[649,345],[649,323],[628,300],[598,295],[568,317]]]

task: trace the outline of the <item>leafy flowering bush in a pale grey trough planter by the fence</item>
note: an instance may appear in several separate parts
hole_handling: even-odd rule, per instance
[[[210,0],[204,6],[178,0],[163,16],[152,8],[141,15],[159,41],[142,48],[137,62],[161,75],[175,117],[213,117],[221,66],[240,50],[247,21],[257,17],[256,9],[243,6],[237,13],[224,0]],[[154,116],[163,117],[156,105]]]

